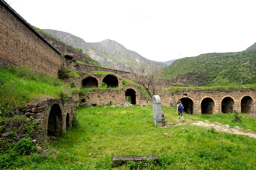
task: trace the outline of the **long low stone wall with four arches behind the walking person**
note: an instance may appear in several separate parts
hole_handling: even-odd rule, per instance
[[[241,113],[255,113],[256,91],[245,88],[244,90],[228,91],[202,91],[180,90],[163,92],[160,94],[162,105],[175,107],[181,100],[186,113],[190,114],[215,114],[238,111]]]

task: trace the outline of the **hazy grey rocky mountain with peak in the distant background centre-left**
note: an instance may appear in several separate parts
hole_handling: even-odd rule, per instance
[[[83,39],[67,32],[50,29],[44,29],[44,31],[75,48],[81,48],[83,52],[87,53],[92,59],[96,60],[100,65],[106,68],[131,71],[131,62],[134,62],[135,65],[134,71],[137,71],[139,62],[145,62],[150,65],[154,64],[159,67],[166,67],[163,62],[146,59],[140,54],[126,49],[123,45],[113,40],[85,42]]]

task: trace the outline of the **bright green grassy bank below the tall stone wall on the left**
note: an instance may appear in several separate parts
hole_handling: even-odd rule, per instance
[[[0,68],[0,113],[1,108],[14,111],[36,99],[65,99],[72,95],[70,85],[58,77],[36,73],[27,66]]]

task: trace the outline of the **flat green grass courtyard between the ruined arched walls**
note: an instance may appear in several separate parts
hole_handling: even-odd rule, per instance
[[[169,125],[178,122],[175,108],[162,107]],[[97,106],[76,109],[75,127],[47,144],[44,154],[0,156],[3,169],[13,170],[253,170],[256,167],[256,139],[222,133],[214,128],[190,125],[209,120],[250,128],[255,133],[256,119],[243,116],[232,122],[234,113],[184,115],[183,125],[160,128],[152,120],[152,106],[111,108]],[[241,115],[241,114],[240,114]],[[198,119],[196,119],[198,118]],[[181,129],[184,128],[184,129]],[[169,138],[164,137],[169,134]],[[10,153],[11,154],[11,153]],[[157,155],[160,164],[129,162],[113,167],[113,155]],[[3,160],[9,165],[4,166]],[[5,162],[6,163],[6,162]],[[7,164],[6,163],[6,164]],[[140,166],[139,166],[140,165]]]

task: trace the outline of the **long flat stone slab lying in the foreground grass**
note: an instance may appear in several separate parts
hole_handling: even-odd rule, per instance
[[[113,156],[113,164],[116,166],[122,166],[123,164],[127,163],[127,161],[141,162],[146,161],[148,159],[153,159],[157,163],[159,156],[115,155]]]

